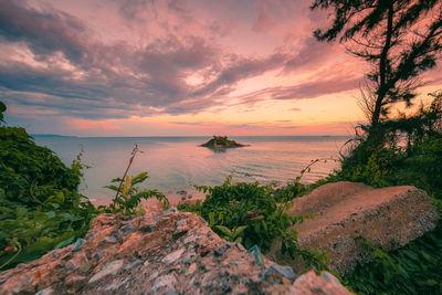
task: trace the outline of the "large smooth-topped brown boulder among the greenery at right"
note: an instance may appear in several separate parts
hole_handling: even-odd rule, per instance
[[[295,200],[291,213],[315,214],[296,225],[301,247],[327,252],[329,267],[343,275],[369,254],[362,241],[393,250],[435,228],[439,214],[427,193],[414,187],[373,189],[362,183],[327,183]],[[359,239],[362,238],[362,239]],[[275,243],[269,257],[294,266]]]

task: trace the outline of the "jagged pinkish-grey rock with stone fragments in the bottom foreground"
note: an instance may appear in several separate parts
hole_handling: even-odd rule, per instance
[[[0,273],[0,294],[350,294],[327,272],[296,276],[172,209],[99,215],[84,240]]]

